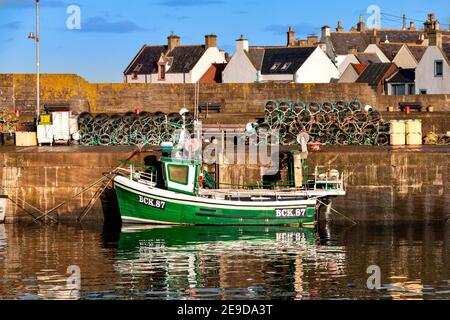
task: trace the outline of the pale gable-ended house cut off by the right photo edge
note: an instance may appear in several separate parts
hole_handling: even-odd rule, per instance
[[[426,49],[416,67],[416,93],[450,93],[450,44]]]

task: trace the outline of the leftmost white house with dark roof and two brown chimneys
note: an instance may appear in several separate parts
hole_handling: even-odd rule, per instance
[[[217,37],[206,35],[204,45],[181,45],[171,35],[168,44],[144,46],[124,71],[126,83],[196,83],[215,63],[226,63]]]

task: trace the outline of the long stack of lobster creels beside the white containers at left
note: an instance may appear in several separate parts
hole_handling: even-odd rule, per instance
[[[187,128],[192,127],[194,115],[185,114]],[[82,113],[78,117],[80,144],[87,146],[144,145],[158,146],[172,141],[183,119],[178,113],[127,112],[124,115]]]

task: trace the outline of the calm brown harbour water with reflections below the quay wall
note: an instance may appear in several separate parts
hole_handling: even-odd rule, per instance
[[[0,225],[0,299],[448,299],[449,260],[449,224]]]

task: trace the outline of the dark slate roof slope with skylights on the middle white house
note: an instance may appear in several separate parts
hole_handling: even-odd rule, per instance
[[[261,73],[294,74],[315,49],[315,47],[266,48]]]

